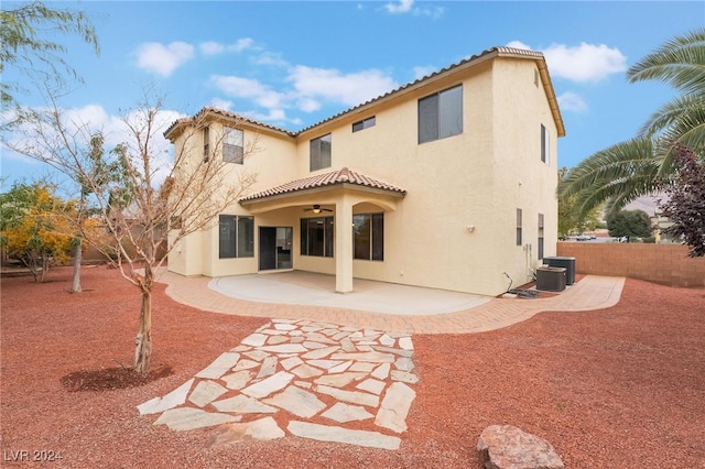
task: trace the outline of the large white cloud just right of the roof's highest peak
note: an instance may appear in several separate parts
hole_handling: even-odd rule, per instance
[[[507,44],[509,47],[533,48],[520,41]],[[595,45],[581,43],[570,47],[564,44],[552,44],[541,50],[549,65],[549,72],[553,77],[570,79],[572,81],[599,81],[609,75],[618,74],[627,69],[627,56],[616,47],[605,44]]]

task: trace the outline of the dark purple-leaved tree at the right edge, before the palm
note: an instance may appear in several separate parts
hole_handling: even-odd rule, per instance
[[[705,255],[705,163],[687,149],[675,157],[679,176],[665,189],[660,203],[663,215],[673,222],[666,232],[682,238],[690,247],[688,257]]]

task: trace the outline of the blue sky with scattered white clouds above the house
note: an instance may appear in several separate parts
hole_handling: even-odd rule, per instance
[[[3,9],[22,2],[3,1]],[[62,40],[83,76],[61,100],[121,140],[121,110],[145,88],[164,97],[164,122],[215,106],[301,130],[431,72],[498,45],[544,53],[566,137],[558,165],[633,137],[674,95],[628,84],[626,70],[664,41],[705,26],[704,1],[82,1],[101,52]],[[61,39],[61,37],[57,37]],[[24,79],[7,69],[3,80]],[[18,96],[42,106],[37,94]],[[46,167],[3,150],[2,177]]]

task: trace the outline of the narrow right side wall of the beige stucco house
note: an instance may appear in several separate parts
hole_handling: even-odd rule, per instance
[[[557,139],[551,109],[534,66],[519,59],[494,62],[494,200],[503,207],[505,228],[495,253],[518,286],[538,262],[539,214],[544,215],[544,257],[555,255],[557,241]],[[549,161],[541,161],[541,124],[550,134]],[[506,132],[503,129],[523,129]],[[521,247],[516,246],[516,209],[522,209]],[[511,228],[514,227],[514,230]],[[492,272],[494,275],[500,272]],[[505,280],[506,282],[506,280]]]

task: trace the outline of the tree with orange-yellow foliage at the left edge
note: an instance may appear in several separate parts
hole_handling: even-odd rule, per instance
[[[75,204],[55,195],[55,187],[40,182],[15,183],[0,194],[0,242],[8,255],[20,260],[43,282],[53,262],[70,258],[76,239],[72,226]]]

